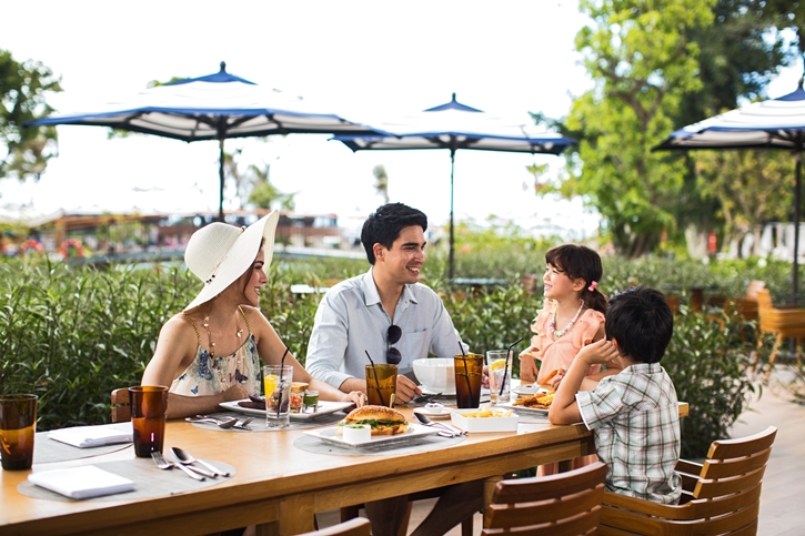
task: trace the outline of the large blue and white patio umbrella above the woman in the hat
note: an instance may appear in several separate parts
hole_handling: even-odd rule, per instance
[[[219,220],[223,221],[223,141],[273,134],[380,134],[308,101],[265,89],[221,70],[141,91],[89,113],[52,114],[27,123],[87,124],[155,134],[187,142],[218,140]]]

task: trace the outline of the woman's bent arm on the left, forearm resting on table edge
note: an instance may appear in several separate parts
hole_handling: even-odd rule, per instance
[[[157,348],[142,374],[142,385],[170,387],[173,380],[195,358],[195,332],[180,315],[170,318],[160,330]],[[182,396],[168,394],[168,418],[181,418],[218,409],[218,404],[245,398],[248,393],[234,385],[219,395]]]

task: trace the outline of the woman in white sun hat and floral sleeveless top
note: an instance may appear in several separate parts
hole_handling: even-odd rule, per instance
[[[221,402],[260,394],[262,358],[280,364],[285,345],[258,309],[268,283],[279,213],[248,227],[211,223],[190,237],[184,262],[204,286],[160,331],[143,385],[170,385],[168,418],[218,409]],[[306,382],[322,400],[362,404],[360,392],[344,394],[314,380],[288,353],[293,380]]]

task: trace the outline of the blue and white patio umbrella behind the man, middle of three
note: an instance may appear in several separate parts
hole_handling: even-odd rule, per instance
[[[453,279],[453,171],[455,152],[479,151],[560,154],[575,140],[552,132],[537,132],[533,125],[485,113],[462,104],[453,93],[450,102],[398,120],[372,124],[386,135],[338,134],[334,140],[353,151],[446,149],[450,151],[450,254],[449,277]]]

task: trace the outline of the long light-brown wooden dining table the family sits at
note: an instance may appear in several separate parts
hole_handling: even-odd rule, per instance
[[[413,421],[411,411],[402,408]],[[687,404],[680,405],[680,414],[687,414]],[[230,464],[237,473],[219,477],[221,482],[211,487],[145,499],[121,494],[103,500],[47,500],[19,493],[30,471],[2,471],[0,535],[192,535],[246,525],[258,525],[260,535],[294,535],[314,528],[316,512],[595,452],[592,435],[582,424],[522,421],[516,432],[471,433],[444,448],[403,455],[312,453],[294,446],[302,431],[238,433],[170,421],[165,448],[180,446],[197,458]],[[49,439],[38,436],[37,441]],[[131,446],[72,462],[37,464],[34,459],[34,469],[125,459],[134,459]],[[173,473],[175,478],[185,477]]]

